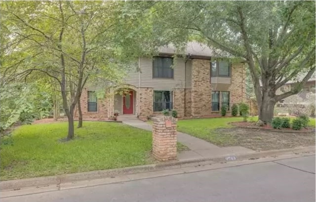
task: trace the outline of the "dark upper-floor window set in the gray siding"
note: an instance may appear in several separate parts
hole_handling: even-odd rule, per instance
[[[171,78],[173,79],[173,58],[154,57],[153,78]]]

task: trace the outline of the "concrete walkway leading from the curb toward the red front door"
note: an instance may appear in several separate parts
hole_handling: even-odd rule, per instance
[[[123,123],[141,128],[144,130],[152,131],[152,125],[147,122],[140,121],[135,117],[124,117],[120,121]],[[200,158],[212,158],[219,156],[235,156],[240,154],[254,153],[255,151],[247,149],[244,147],[218,147],[214,144],[206,142],[205,140],[199,139],[197,137],[191,136],[189,134],[178,132],[177,141],[186,145],[190,148],[190,151],[183,151],[178,154],[179,160],[190,160],[190,159],[200,159]]]

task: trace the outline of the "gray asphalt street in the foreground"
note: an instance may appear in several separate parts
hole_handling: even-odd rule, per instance
[[[315,202],[315,156],[2,198],[0,202]]]

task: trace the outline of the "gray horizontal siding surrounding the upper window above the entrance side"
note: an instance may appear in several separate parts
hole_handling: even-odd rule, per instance
[[[153,79],[152,58],[142,58],[140,64],[140,87],[152,87],[154,90],[173,90],[174,88],[185,88],[185,59],[176,59],[173,70],[173,79]]]

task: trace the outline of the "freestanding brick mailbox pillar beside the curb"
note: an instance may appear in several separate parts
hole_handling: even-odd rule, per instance
[[[153,155],[158,161],[177,159],[177,119],[153,117]]]

